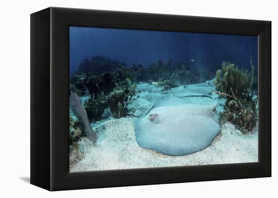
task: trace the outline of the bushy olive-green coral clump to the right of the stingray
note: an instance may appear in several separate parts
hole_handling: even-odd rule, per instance
[[[230,62],[223,62],[213,84],[220,97],[226,98],[222,123],[234,123],[243,134],[251,131],[257,123],[257,98],[252,89],[254,65],[251,59],[251,74]]]

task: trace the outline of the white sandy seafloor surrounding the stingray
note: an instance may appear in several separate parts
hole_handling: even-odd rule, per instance
[[[186,96],[212,93],[211,97],[218,100],[217,111],[223,110],[224,99],[211,90],[211,82],[202,84],[179,86],[167,92],[157,85],[140,83],[136,91],[140,97],[129,108],[135,108],[135,115],[141,116],[155,104],[156,101],[168,95]],[[84,100],[85,98],[83,98]],[[210,104],[213,102],[206,97],[183,98],[196,104]],[[107,114],[108,111],[106,111]],[[109,114],[108,114],[109,115]],[[122,117],[114,119],[112,116],[91,123],[98,134],[97,146],[93,146],[87,138],[79,141],[79,149],[83,153],[81,161],[70,164],[70,171],[93,171],[111,169],[152,168],[205,164],[245,163],[258,161],[258,130],[257,127],[242,135],[231,123],[221,126],[219,134],[211,146],[206,149],[185,155],[167,156],[140,147],[135,139],[134,119],[136,117]]]

